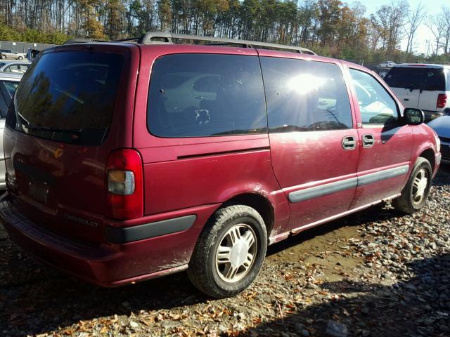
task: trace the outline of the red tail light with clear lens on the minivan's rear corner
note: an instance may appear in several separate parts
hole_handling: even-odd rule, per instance
[[[128,220],[143,216],[143,164],[139,152],[123,149],[110,153],[106,191],[111,217]]]

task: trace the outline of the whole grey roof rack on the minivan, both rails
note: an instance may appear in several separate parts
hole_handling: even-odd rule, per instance
[[[176,44],[176,40],[206,41],[206,46],[242,46],[243,48],[263,48],[276,49],[281,51],[295,51],[297,53],[316,55],[314,51],[307,48],[297,46],[285,46],[284,44],[268,44],[266,42],[239,40],[239,39],[223,39],[221,37],[202,37],[200,35],[188,34],[172,34],[162,32],[147,32],[141,37],[130,37],[127,39],[114,40],[114,42],[136,41],[138,44]],[[84,44],[89,42],[106,42],[96,39],[70,39],[64,44]]]

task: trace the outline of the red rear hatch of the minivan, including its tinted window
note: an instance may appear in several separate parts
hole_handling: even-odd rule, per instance
[[[102,240],[108,154],[131,147],[139,47],[60,46],[24,75],[6,118],[8,189],[37,225]]]

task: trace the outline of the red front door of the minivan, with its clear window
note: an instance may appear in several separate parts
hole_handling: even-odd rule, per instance
[[[351,206],[356,209],[401,192],[411,169],[413,133],[411,126],[402,125],[396,101],[375,77],[356,69],[349,72],[362,124],[358,187]],[[360,100],[358,87],[369,97]]]

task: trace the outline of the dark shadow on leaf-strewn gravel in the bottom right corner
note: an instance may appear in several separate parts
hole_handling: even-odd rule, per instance
[[[394,286],[321,284],[322,291],[338,294],[338,298],[297,308],[295,313],[260,324],[245,335],[274,336],[283,331],[328,336],[326,325],[331,319],[345,324],[348,336],[450,336],[450,255],[416,260],[407,266],[415,277]]]

